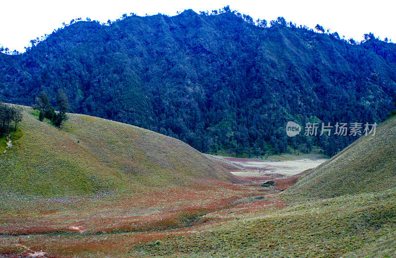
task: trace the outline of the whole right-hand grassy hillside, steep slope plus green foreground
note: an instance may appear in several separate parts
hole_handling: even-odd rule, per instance
[[[395,139],[393,117],[375,136],[361,137],[281,194],[211,215],[236,220],[203,232],[172,234],[132,251],[160,256],[392,257]]]

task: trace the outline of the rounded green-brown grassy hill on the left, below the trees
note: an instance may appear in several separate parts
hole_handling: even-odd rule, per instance
[[[0,154],[1,191],[81,195],[234,180],[221,163],[179,140],[92,116],[69,117],[59,130],[25,108],[19,139]]]

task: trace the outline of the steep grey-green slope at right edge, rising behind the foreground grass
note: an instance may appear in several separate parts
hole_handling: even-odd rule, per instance
[[[396,117],[362,136],[284,192],[297,198],[329,198],[396,186]]]

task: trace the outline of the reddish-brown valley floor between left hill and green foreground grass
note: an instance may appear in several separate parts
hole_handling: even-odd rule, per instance
[[[269,178],[278,183],[279,178]],[[2,195],[1,253],[121,255],[143,243],[211,231],[263,209],[284,208],[285,202],[273,196],[277,192],[251,181],[197,181],[189,187],[85,198]]]

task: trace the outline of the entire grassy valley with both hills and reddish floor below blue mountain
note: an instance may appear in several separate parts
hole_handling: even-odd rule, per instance
[[[145,129],[69,116],[59,130],[24,107],[23,136],[1,155],[3,256],[366,256],[395,251],[396,151],[387,149],[396,146],[396,118],[381,124],[375,138],[364,136],[331,159],[313,150],[262,160],[202,154]],[[59,165],[63,155],[67,170]],[[350,171],[340,186],[337,179],[348,172],[343,164],[359,173]],[[388,169],[382,172],[373,164]],[[328,166],[332,170],[326,171]],[[310,180],[315,177],[321,180]],[[360,177],[370,181],[355,183]]]

